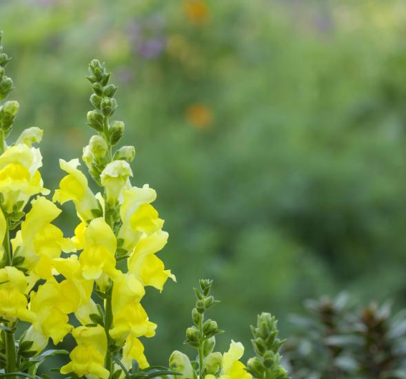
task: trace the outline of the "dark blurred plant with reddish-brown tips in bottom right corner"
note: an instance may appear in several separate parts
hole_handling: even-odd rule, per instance
[[[284,347],[292,376],[335,379],[406,378],[405,311],[372,303],[353,307],[345,294],[307,300],[294,316],[296,335]]]

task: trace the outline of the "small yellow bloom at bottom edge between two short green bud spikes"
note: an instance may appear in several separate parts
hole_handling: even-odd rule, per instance
[[[241,342],[230,343],[230,349],[223,354],[223,367],[219,379],[252,379],[250,373],[245,371],[245,365],[239,359],[244,354],[244,347]],[[216,379],[212,374],[206,375],[205,379]]]

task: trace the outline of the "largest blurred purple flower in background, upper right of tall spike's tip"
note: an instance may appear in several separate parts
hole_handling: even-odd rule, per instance
[[[134,21],[128,26],[133,50],[145,59],[156,59],[165,50],[165,19],[161,14]]]

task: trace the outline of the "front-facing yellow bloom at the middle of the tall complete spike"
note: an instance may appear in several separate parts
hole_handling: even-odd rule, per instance
[[[94,218],[83,233],[83,252],[79,256],[85,279],[98,280],[105,274],[113,278],[116,270],[116,236],[104,218]]]

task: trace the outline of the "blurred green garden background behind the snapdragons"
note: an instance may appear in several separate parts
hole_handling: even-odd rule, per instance
[[[249,346],[263,310],[289,336],[308,297],[406,305],[404,0],[1,0],[0,28],[14,133],[43,128],[52,189],[92,135],[88,62],[119,85],[133,183],[158,192],[178,279],[143,303],[151,363],[182,348],[199,278],[222,300],[220,348]]]

